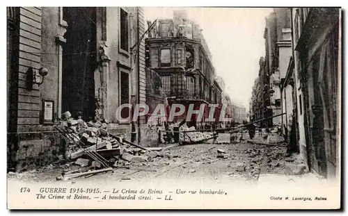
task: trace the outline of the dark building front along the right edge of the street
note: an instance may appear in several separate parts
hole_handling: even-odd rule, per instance
[[[311,172],[340,174],[340,8],[292,8],[291,86],[299,151]],[[293,78],[293,81],[292,81]],[[287,101],[287,100],[285,100]]]

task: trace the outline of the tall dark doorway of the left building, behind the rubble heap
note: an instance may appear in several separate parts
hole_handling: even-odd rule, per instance
[[[94,71],[97,62],[96,8],[63,8],[62,111],[85,121],[95,117]]]

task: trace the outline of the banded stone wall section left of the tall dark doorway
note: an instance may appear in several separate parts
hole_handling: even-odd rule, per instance
[[[54,101],[58,110],[58,8],[20,8],[19,23],[19,103],[17,170],[47,165],[61,153],[59,136],[52,126],[40,122],[42,99]],[[49,73],[42,85],[26,89],[26,70],[38,72],[46,67]],[[37,78],[40,81],[40,78]]]

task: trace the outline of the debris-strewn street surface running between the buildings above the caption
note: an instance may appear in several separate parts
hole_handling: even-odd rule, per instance
[[[229,139],[230,135],[223,133],[217,142],[228,143]],[[125,162],[125,167],[129,169],[118,167],[113,169],[113,173],[73,178],[70,181],[258,181],[260,175],[286,174],[285,163],[292,163],[294,159],[286,158],[285,153],[284,146],[252,144],[246,140],[237,144],[188,144],[168,149],[163,156],[149,162]],[[9,181],[56,182],[61,172],[78,167],[74,163],[49,165],[29,172],[9,173],[8,177]]]

